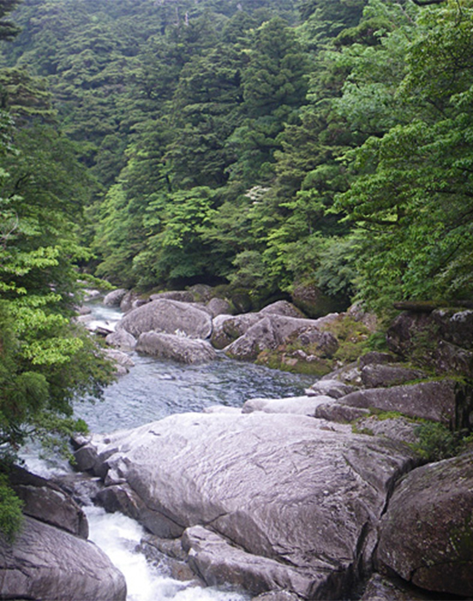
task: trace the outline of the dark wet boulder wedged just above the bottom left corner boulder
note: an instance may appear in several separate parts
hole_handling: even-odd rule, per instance
[[[23,501],[23,513],[86,539],[86,514],[56,484],[15,466],[9,474],[15,494]]]

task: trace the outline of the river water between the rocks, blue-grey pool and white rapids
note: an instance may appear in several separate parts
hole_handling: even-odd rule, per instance
[[[119,311],[100,303],[90,305],[91,323],[114,328]],[[162,419],[172,413],[200,412],[211,405],[241,407],[253,397],[280,398],[302,394],[313,377],[269,370],[227,359],[184,366],[131,353],[135,367],[105,392],[103,401],[78,402],[75,416],[86,420],[94,433],[112,433]],[[28,466],[42,475],[61,472],[61,465],[35,460],[26,451]],[[127,601],[245,601],[249,597],[213,587],[198,588],[169,576],[166,565],[150,565],[136,553],[144,534],[140,525],[122,514],[85,508],[90,539],[100,546],[126,576]]]

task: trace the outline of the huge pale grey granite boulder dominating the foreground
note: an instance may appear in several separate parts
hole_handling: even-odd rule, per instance
[[[152,533],[186,532],[208,582],[306,599],[341,598],[370,569],[387,494],[415,461],[406,445],[259,412],[172,415],[83,448]]]

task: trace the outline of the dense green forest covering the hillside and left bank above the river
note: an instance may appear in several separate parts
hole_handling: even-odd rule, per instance
[[[79,280],[471,298],[470,0],[0,0],[0,38],[8,452],[110,380]]]

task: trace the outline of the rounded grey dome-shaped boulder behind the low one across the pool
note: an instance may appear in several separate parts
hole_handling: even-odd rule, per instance
[[[191,338],[208,338],[212,333],[212,319],[195,305],[161,299],[130,311],[116,328],[136,337],[146,331],[157,331],[166,334],[183,332]]]

